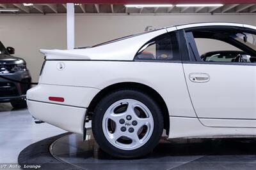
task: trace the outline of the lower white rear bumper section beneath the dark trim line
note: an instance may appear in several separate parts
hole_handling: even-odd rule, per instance
[[[27,100],[33,117],[69,132],[83,134],[86,108]]]

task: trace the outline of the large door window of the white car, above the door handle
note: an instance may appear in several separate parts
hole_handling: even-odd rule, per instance
[[[186,37],[188,45],[194,44],[190,48],[191,59],[202,62],[256,62],[255,34],[241,29],[204,29],[186,32]]]

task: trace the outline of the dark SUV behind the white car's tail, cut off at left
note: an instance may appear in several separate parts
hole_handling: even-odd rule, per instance
[[[0,41],[0,103],[10,102],[13,108],[26,108],[31,76],[25,60],[12,56],[14,52],[14,48],[5,48]]]

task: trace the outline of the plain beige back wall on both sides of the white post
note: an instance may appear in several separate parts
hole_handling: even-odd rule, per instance
[[[109,39],[154,28],[191,22],[240,22],[256,25],[256,15],[76,15],[76,46],[90,46]],[[23,57],[33,81],[44,56],[40,48],[66,48],[65,15],[0,15],[0,40],[13,46],[15,55]],[[204,47],[206,48],[206,47]],[[204,49],[205,50],[205,49]]]

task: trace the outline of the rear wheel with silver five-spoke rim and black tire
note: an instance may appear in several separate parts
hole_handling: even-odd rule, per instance
[[[137,90],[118,90],[97,104],[92,131],[104,152],[136,158],[147,155],[159,143],[163,122],[161,109],[150,96]]]

